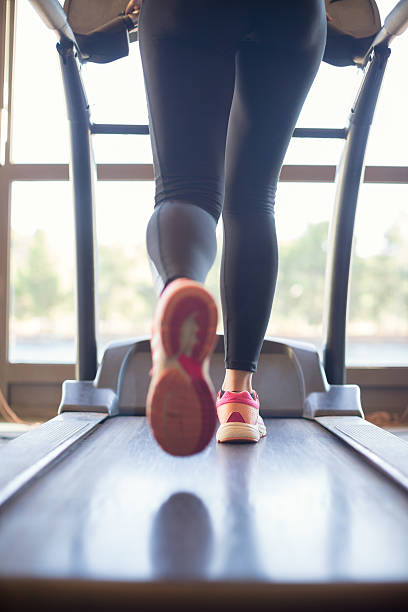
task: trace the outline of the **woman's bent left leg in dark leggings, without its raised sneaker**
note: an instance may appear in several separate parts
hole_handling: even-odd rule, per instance
[[[156,180],[147,248],[160,289],[177,277],[203,282],[215,258],[235,53],[246,14],[237,0],[148,0],[142,6]]]

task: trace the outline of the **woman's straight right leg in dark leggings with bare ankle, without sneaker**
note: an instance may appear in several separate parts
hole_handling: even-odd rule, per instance
[[[223,388],[233,391],[251,390],[248,372],[256,371],[269,322],[278,266],[276,186],[326,32],[323,0],[255,0],[252,8],[252,40],[237,55],[223,210]]]

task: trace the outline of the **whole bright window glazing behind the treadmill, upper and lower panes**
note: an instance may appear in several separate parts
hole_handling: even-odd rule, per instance
[[[378,4],[384,17],[395,2]],[[6,314],[1,319],[3,336],[9,330],[2,365],[9,360],[10,371],[16,362],[73,362],[76,328],[69,142],[56,39],[30,3],[17,0],[16,11],[11,150],[1,168],[5,225],[11,187],[10,316],[9,321]],[[408,84],[402,78],[407,52],[405,34],[392,45],[367,149],[371,176],[376,166],[384,166],[385,181],[394,180],[389,167],[408,166]],[[84,67],[83,78],[94,122],[147,123],[137,44],[131,45],[128,58]],[[322,64],[298,126],[344,127],[360,79],[356,68]],[[155,296],[144,234],[153,184],[139,164],[151,164],[152,154],[147,136],[98,135],[93,143],[100,178],[96,220],[101,351],[111,340],[150,332]],[[342,146],[340,140],[323,139],[292,139],[289,146],[285,164],[294,167],[292,182],[281,182],[278,189],[280,272],[270,335],[321,344],[327,228],[335,185],[330,178],[314,182],[313,166],[333,170]],[[306,177],[297,164],[310,166]],[[114,165],[119,170],[112,170]],[[350,284],[349,366],[408,364],[407,196],[406,180],[362,186]],[[218,263],[221,233],[220,226]],[[207,284],[219,304],[217,262]]]

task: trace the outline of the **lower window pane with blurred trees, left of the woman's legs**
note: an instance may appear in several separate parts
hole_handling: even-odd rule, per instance
[[[111,340],[146,335],[156,301],[145,252],[151,182],[96,189],[99,353]],[[114,205],[113,205],[114,203]],[[75,361],[74,225],[68,182],[12,189],[9,359]]]

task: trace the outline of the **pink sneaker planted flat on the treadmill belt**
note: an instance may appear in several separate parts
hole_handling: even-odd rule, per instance
[[[216,406],[221,423],[217,431],[217,442],[258,442],[266,436],[255,391],[220,391]]]

